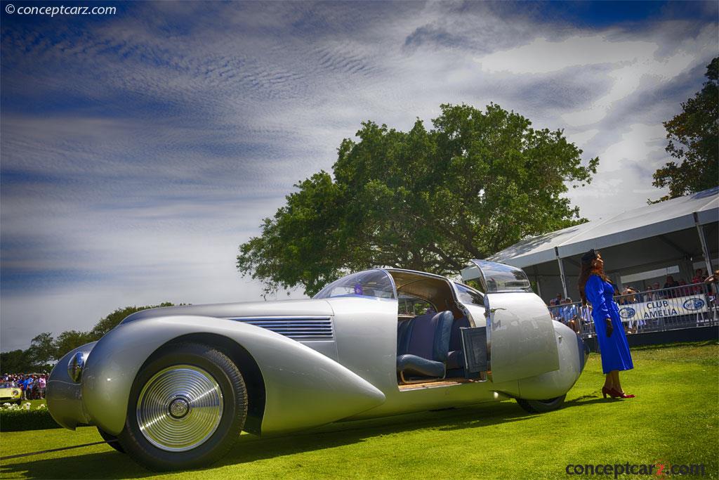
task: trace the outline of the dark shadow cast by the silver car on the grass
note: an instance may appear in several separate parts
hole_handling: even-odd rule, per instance
[[[210,468],[352,445],[382,435],[413,430],[463,430],[517,422],[534,416],[524,412],[514,402],[503,402],[440,412],[339,422],[304,433],[278,437],[260,438],[255,435],[242,435],[227,456]],[[106,448],[108,450],[103,452],[69,457],[42,458],[42,455],[39,455],[17,461],[4,461],[0,465],[0,473],[2,476],[23,476],[31,479],[139,479],[156,475],[138,466],[126,455],[111,450],[109,446]]]

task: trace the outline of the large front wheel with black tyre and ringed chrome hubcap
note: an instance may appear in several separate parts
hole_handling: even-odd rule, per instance
[[[232,448],[246,417],[247,389],[232,360],[210,345],[176,343],[137,373],[118,438],[152,470],[198,468]]]

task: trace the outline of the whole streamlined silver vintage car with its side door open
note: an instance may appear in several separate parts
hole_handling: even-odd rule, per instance
[[[228,415],[273,435],[511,398],[559,407],[584,368],[581,338],[551,319],[519,268],[472,261],[462,279],[485,293],[377,268],[313,299],[143,310],[62,358],[47,406],[63,427],[96,425],[155,469],[214,461],[204,450],[237,429]]]

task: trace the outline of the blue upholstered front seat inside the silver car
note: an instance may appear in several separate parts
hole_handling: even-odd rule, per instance
[[[446,311],[400,322],[397,330],[397,373],[403,376],[444,377],[453,321],[452,312]]]

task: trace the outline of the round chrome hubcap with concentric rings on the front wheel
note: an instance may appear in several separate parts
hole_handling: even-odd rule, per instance
[[[222,418],[222,391],[202,368],[175,365],[155,373],[137,399],[137,425],[147,441],[181,452],[204,443]]]

